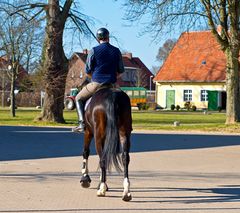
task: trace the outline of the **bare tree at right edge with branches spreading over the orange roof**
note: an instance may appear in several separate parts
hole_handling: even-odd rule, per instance
[[[146,31],[155,38],[176,27],[182,30],[210,28],[226,56],[226,124],[240,121],[239,92],[239,0],[127,0],[127,17],[137,21],[151,17]],[[220,26],[220,33],[218,27]]]

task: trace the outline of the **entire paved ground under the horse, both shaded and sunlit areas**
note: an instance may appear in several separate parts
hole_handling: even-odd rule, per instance
[[[240,212],[240,136],[134,133],[129,203],[115,172],[96,196],[94,143],[80,187],[82,142],[68,128],[0,127],[0,212]]]

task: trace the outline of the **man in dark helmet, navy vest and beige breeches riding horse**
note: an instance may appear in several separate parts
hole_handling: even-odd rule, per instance
[[[119,74],[124,72],[122,54],[117,47],[109,43],[109,31],[100,28],[97,31],[99,45],[93,47],[87,57],[85,72],[91,78],[75,98],[79,125],[73,132],[84,130],[84,102],[90,98],[100,87],[113,86]]]

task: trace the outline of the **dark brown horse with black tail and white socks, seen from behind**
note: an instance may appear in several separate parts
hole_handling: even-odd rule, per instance
[[[118,172],[121,172],[122,167],[124,170],[122,200],[130,201],[132,199],[128,177],[131,131],[132,115],[128,95],[116,88],[98,90],[92,96],[85,111],[82,177],[80,180],[82,187],[88,188],[91,183],[88,173],[88,157],[89,146],[94,137],[101,169],[97,196],[105,196],[108,190],[106,171],[111,171],[114,166]]]

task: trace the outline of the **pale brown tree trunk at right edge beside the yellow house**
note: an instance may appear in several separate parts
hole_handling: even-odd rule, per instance
[[[226,87],[227,87],[227,112],[226,124],[240,121],[240,93],[239,93],[239,48],[227,48]]]

